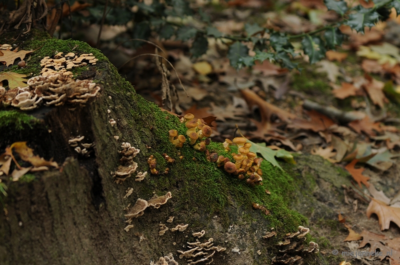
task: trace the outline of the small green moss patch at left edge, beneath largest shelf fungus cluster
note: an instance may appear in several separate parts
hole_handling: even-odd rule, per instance
[[[15,130],[23,130],[24,126],[32,129],[32,124],[37,123],[38,120],[31,115],[16,110],[1,110],[0,111],[0,127],[12,126]]]

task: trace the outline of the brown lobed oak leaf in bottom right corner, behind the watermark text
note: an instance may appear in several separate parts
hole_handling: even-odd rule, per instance
[[[381,255],[376,255],[380,260],[383,260],[386,256],[389,256],[390,259],[399,263],[400,262],[400,238],[389,239],[384,235],[375,234],[369,231],[361,232],[362,242],[359,244],[358,248],[363,248],[366,244],[370,245],[370,248],[367,250],[369,252],[375,252],[379,249]],[[393,263],[390,262],[390,265]]]

